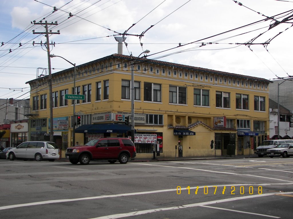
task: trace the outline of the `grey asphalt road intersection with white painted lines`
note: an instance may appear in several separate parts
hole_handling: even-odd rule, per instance
[[[293,158],[0,160],[0,218],[292,218]]]

